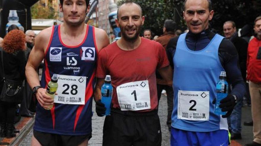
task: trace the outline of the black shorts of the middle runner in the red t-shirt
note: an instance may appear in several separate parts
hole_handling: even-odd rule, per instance
[[[137,113],[112,109],[103,127],[103,146],[161,146],[157,111]]]

